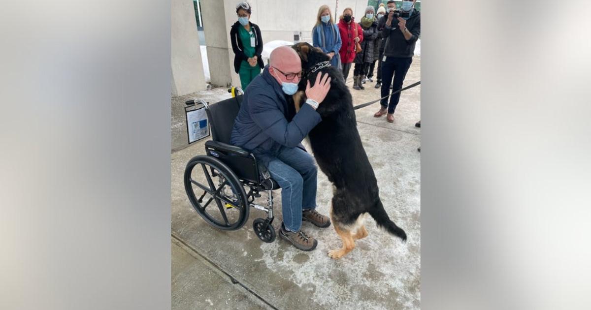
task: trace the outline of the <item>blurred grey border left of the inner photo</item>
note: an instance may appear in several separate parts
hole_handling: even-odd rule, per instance
[[[169,309],[170,2],[0,20],[0,309]]]

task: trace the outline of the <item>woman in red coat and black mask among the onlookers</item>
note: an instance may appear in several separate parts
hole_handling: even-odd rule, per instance
[[[339,19],[340,40],[342,41],[339,55],[340,62],[343,65],[343,77],[345,77],[346,82],[351,63],[355,60],[355,42],[361,43],[363,41],[363,30],[359,24],[353,21],[353,10],[351,8],[346,8]],[[355,29],[357,29],[357,35],[355,35]]]

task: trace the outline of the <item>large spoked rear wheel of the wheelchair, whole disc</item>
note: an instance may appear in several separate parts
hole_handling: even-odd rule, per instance
[[[185,168],[184,185],[193,208],[213,227],[236,230],[248,220],[244,187],[219,159],[205,155],[191,158]]]

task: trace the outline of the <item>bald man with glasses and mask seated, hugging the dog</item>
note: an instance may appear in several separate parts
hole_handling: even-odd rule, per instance
[[[301,230],[302,221],[329,227],[329,217],[316,211],[318,169],[301,145],[322,119],[316,112],[330,90],[328,74],[306,87],[306,103],[296,112],[287,96],[296,93],[301,60],[289,46],[275,48],[269,64],[245,90],[230,143],[252,152],[281,187],[281,239],[304,251],[316,249],[317,240]]]

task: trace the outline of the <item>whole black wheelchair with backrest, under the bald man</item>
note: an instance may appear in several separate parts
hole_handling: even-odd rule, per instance
[[[204,106],[212,140],[205,142],[206,155],[194,156],[187,163],[183,177],[185,191],[195,211],[217,229],[241,229],[251,207],[265,211],[267,217],[256,218],[252,228],[259,239],[271,243],[276,236],[271,225],[274,219],[272,190],[280,187],[251,152],[229,144],[243,97],[242,90],[231,91],[232,98],[212,105],[201,99],[186,102],[188,106]],[[254,203],[261,192],[267,194],[266,206]]]

